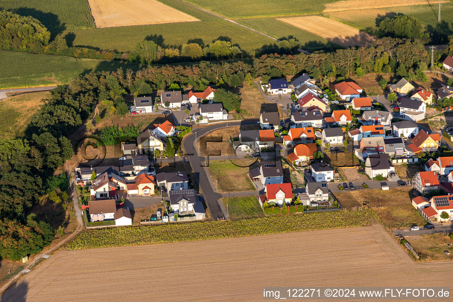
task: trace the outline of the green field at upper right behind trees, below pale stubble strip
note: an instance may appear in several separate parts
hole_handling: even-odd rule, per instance
[[[405,14],[414,17],[415,19],[419,19],[426,24],[429,32],[434,32],[434,29],[436,29],[439,33],[452,34],[453,24],[451,18],[453,16],[453,4],[451,2],[441,4],[440,23],[437,22],[438,8],[438,4],[434,3],[432,5],[367,9],[363,14],[361,14],[361,10],[358,10],[356,14],[351,14],[350,11],[338,11],[324,13],[323,15],[373,34],[376,32],[377,26],[381,20],[385,17],[391,18],[397,14]]]

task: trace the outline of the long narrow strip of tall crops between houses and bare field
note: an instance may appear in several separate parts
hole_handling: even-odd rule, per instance
[[[68,245],[68,249],[162,244],[307,230],[323,230],[370,225],[376,222],[370,209],[316,212],[289,216],[269,216],[231,221],[173,223],[159,226],[120,227],[87,230]]]

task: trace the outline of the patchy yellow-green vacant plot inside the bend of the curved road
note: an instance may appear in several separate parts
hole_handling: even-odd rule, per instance
[[[216,181],[218,182],[219,193],[243,192],[255,190],[255,185],[247,173],[258,166],[259,161],[256,158],[222,159],[210,160],[207,170],[214,188],[217,186]]]

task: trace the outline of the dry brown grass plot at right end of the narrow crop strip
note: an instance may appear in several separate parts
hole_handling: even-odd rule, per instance
[[[381,223],[392,229],[425,225],[426,221],[411,204],[410,187],[357,190],[336,194],[344,209],[371,207]]]

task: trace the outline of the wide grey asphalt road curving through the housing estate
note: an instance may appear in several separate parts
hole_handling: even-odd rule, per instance
[[[228,123],[228,126],[254,125],[254,124],[256,124],[256,121],[255,122],[242,121]],[[184,157],[188,158],[189,163],[192,166],[193,173],[195,174],[195,177],[197,177],[198,184],[202,189],[203,198],[207,206],[209,207],[212,219],[214,220],[226,216],[224,214],[224,209],[222,209],[223,206],[221,206],[217,201],[218,199],[222,198],[222,194],[214,192],[214,190],[212,189],[211,181],[207,176],[207,169],[206,167],[202,166],[202,162],[204,162],[205,158],[202,156],[198,156],[197,153],[198,149],[196,149],[197,147],[195,146],[195,135],[198,139],[200,136],[206,134],[209,131],[224,127],[226,127],[225,124],[216,124],[206,128],[195,129],[192,131],[194,134],[190,135],[187,139],[184,140],[184,149],[186,150],[186,154],[184,155]]]

